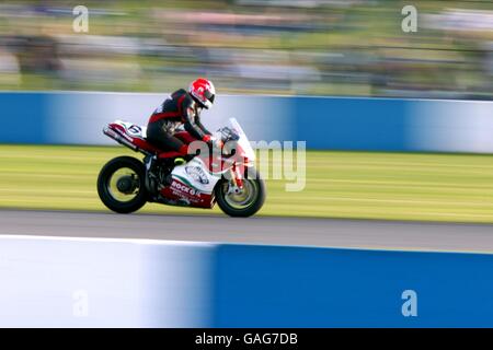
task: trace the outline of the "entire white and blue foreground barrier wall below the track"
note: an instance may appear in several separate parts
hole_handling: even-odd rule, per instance
[[[493,327],[488,254],[1,235],[0,257],[2,327]]]

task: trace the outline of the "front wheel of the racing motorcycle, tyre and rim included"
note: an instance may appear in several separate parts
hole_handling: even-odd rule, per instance
[[[216,187],[219,208],[230,217],[251,217],[264,205],[266,196],[265,183],[253,167],[246,168],[243,189],[230,191],[229,180],[222,178]]]

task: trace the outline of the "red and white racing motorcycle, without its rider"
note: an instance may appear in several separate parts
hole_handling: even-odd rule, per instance
[[[118,156],[101,170],[98,194],[108,209],[129,213],[146,202],[211,209],[217,202],[230,217],[250,217],[262,208],[265,184],[254,167],[255,152],[234,118],[217,132],[221,150],[196,147],[197,155],[179,165],[175,160],[181,154],[154,148],[146,140],[146,127],[122,120],[103,129],[104,135],[144,155],[142,161]],[[193,149],[196,140],[187,131],[181,129],[174,136]]]

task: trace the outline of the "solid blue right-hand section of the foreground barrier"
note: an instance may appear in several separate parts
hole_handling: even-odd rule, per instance
[[[493,255],[222,245],[215,270],[215,327],[493,326]]]

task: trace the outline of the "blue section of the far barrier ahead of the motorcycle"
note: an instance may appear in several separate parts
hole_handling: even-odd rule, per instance
[[[295,140],[311,149],[404,151],[410,101],[293,98]]]

